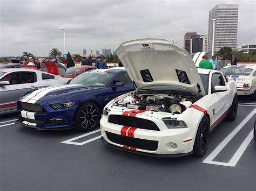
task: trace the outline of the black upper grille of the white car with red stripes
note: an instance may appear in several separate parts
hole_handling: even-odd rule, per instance
[[[147,119],[142,119],[137,117],[110,115],[109,123],[114,123],[114,124],[124,125],[124,126],[132,126],[134,128],[139,128],[139,129],[160,131],[156,123]]]

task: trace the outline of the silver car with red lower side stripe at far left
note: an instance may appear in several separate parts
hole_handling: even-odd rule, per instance
[[[17,111],[19,97],[28,91],[65,84],[69,80],[37,69],[0,69],[0,115]]]

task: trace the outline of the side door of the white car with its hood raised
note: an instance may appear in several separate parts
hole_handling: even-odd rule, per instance
[[[228,99],[229,94],[228,90],[223,92],[215,92],[215,86],[226,86],[225,80],[223,75],[218,72],[212,72],[209,79],[209,89],[208,89],[208,96],[209,96],[209,108],[211,108],[210,115],[212,116],[212,122],[218,121],[229,108]]]

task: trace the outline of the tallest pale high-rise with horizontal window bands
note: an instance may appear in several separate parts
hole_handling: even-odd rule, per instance
[[[207,52],[212,52],[212,19],[216,19],[213,51],[217,52],[224,46],[237,48],[238,4],[220,4],[209,11]]]

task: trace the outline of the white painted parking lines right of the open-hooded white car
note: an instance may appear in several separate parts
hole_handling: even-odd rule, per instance
[[[213,159],[220,153],[221,150],[230,142],[230,140],[237,135],[237,133],[245,126],[245,124],[254,116],[256,113],[256,109],[254,109],[238,126],[235,128],[230,135],[228,135],[214,150],[208,157],[203,161],[203,163],[213,164],[213,165],[222,165],[222,166],[231,166],[234,167],[238,160],[241,158],[241,155],[244,153],[246,147],[250,144],[251,139],[253,138],[252,132],[246,137],[244,142],[238,148],[237,152],[233,155],[229,162],[218,162],[213,161]]]

